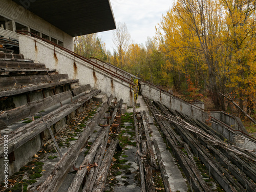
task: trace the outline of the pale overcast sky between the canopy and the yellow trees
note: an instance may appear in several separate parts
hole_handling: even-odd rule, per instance
[[[125,23],[131,39],[137,44],[145,44],[147,37],[155,36],[155,26],[162,15],[173,5],[173,0],[110,0],[116,23]],[[98,33],[113,53],[112,31]]]

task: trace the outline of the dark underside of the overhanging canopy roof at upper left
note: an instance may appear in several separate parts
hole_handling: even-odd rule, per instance
[[[71,36],[116,29],[110,0],[12,0]]]

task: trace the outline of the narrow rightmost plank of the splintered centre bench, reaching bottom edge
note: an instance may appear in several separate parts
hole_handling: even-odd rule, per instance
[[[160,168],[160,172],[161,172],[161,176],[162,176],[162,180],[163,180],[164,190],[166,192],[171,192],[172,190],[170,189],[170,184],[169,184],[169,181],[168,181],[168,175],[166,173],[164,162],[163,162],[163,159],[162,159],[162,156],[161,156],[161,153],[160,153],[160,150],[159,150],[156,139],[153,139],[153,143],[154,143],[154,146],[155,146],[157,160],[158,160],[158,163],[159,163],[159,168]]]

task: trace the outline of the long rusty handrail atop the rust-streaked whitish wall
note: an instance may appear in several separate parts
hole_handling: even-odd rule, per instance
[[[67,49],[67,48],[61,47],[61,46],[55,44],[54,42],[52,42],[52,41],[50,41],[50,40],[44,39],[44,38],[42,38],[42,37],[40,37],[40,36],[38,36],[38,35],[36,35],[36,34],[33,34],[33,33],[31,33],[30,31],[27,31],[27,30],[17,30],[16,32],[17,32],[18,34],[22,34],[22,35],[28,35],[28,34],[26,34],[26,33],[30,33],[30,34],[33,35],[35,38],[38,38],[38,39],[40,39],[40,40],[42,40],[42,41],[45,41],[45,42],[48,42],[49,44],[51,44],[51,45],[53,45],[53,46],[55,46],[55,47],[57,47],[57,48],[59,48],[59,49],[61,49],[61,50],[63,50],[63,51],[66,51],[66,52],[68,52],[69,54],[71,54],[71,55],[73,55],[73,56],[75,56],[75,57],[77,57],[77,58],[79,58],[79,59],[81,59],[81,60],[83,60],[83,61],[88,62],[88,63],[91,64],[92,66],[94,66],[94,67],[96,67],[96,68],[98,68],[98,69],[100,69],[100,70],[102,70],[102,71],[104,71],[104,72],[106,72],[106,73],[109,73],[110,75],[112,75],[112,76],[114,76],[114,77],[116,77],[116,78],[118,78],[118,79],[120,79],[120,80],[122,80],[122,81],[125,81],[125,82],[129,83],[129,84],[132,85],[132,86],[135,86],[135,84],[133,83],[133,81],[132,81],[131,79],[126,78],[126,79],[128,79],[128,80],[125,80],[125,77],[120,77],[121,75],[117,74],[116,72],[114,72],[114,71],[112,71],[112,70],[109,70],[109,69],[107,70],[107,69],[105,69],[104,67],[101,67],[100,65],[98,65],[96,62],[94,62],[94,61],[92,61],[92,60],[90,60],[90,59],[88,59],[88,58],[86,58],[86,57],[83,57],[83,56],[81,56],[81,55],[78,55],[77,53],[75,53],[75,52],[73,52],[73,51],[71,51],[71,50],[69,50],[69,49]],[[30,36],[30,35],[28,35],[28,36]],[[118,76],[118,75],[119,75],[119,76]],[[129,82],[129,81],[130,81],[130,82]]]

